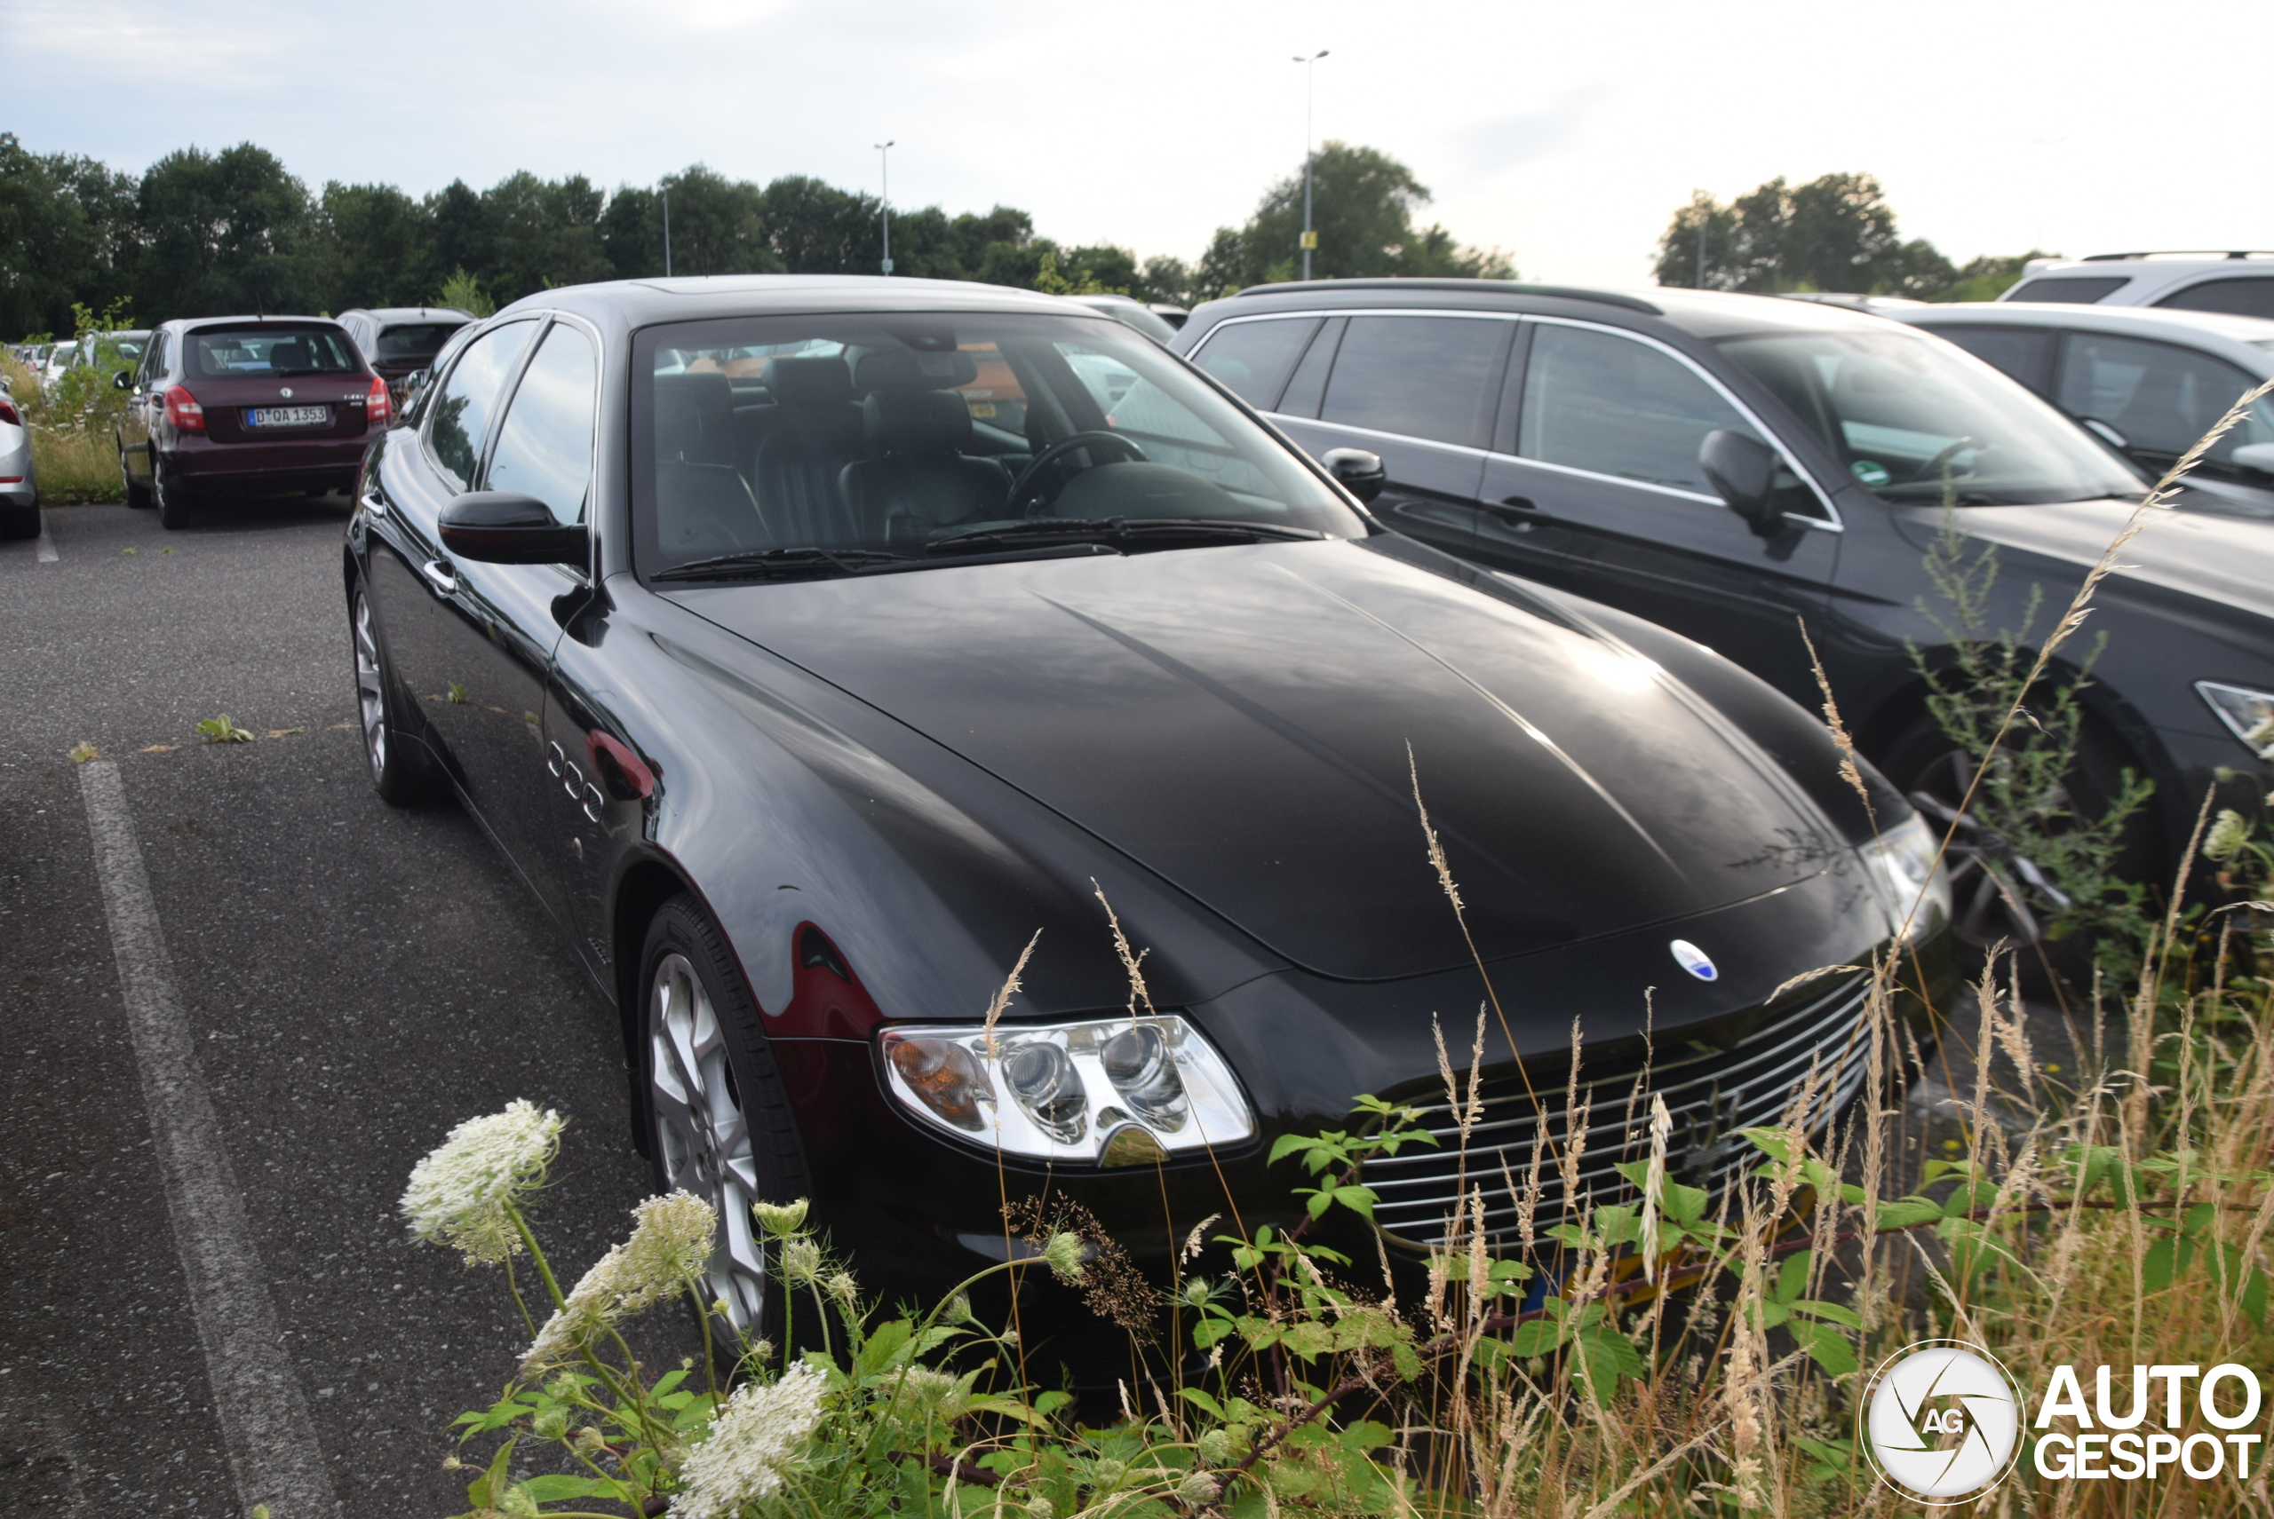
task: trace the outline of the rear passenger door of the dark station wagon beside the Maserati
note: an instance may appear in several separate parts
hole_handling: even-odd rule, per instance
[[[1496,314],[1337,316],[1289,377],[1276,421],[1312,455],[1378,453],[1387,482],[1376,516],[1467,555],[1501,371],[1517,334],[1517,321]]]

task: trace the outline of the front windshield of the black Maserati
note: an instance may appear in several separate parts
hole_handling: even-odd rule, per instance
[[[1367,532],[1237,405],[1107,318],[680,323],[641,332],[632,366],[650,575]]]

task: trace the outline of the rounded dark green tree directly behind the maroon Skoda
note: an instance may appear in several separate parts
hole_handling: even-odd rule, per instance
[[[323,257],[307,186],[266,148],[168,152],[141,180],[136,316],[312,312]]]

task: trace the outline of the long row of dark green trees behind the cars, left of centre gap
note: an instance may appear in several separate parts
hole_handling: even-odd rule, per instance
[[[1396,159],[1346,143],[1317,155],[1321,277],[1514,271],[1499,252],[1417,227],[1428,189]],[[875,273],[882,205],[812,175],[766,184],[703,164],[650,186],[514,173],[409,196],[393,184],[312,191],[257,143],[168,152],[141,175],[0,132],[0,334],[61,334],[75,307],[134,323],[234,312],[377,305],[487,309],[539,289],[664,273]],[[1303,173],[1221,227],[1192,264],[1173,255],[1062,246],[1010,205],[948,214],[894,207],[896,275],[1046,291],[1123,291],[1192,305],[1298,268]]]

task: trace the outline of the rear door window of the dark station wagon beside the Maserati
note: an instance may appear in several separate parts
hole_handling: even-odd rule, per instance
[[[1353,316],[1319,421],[1480,448],[1512,321]]]

